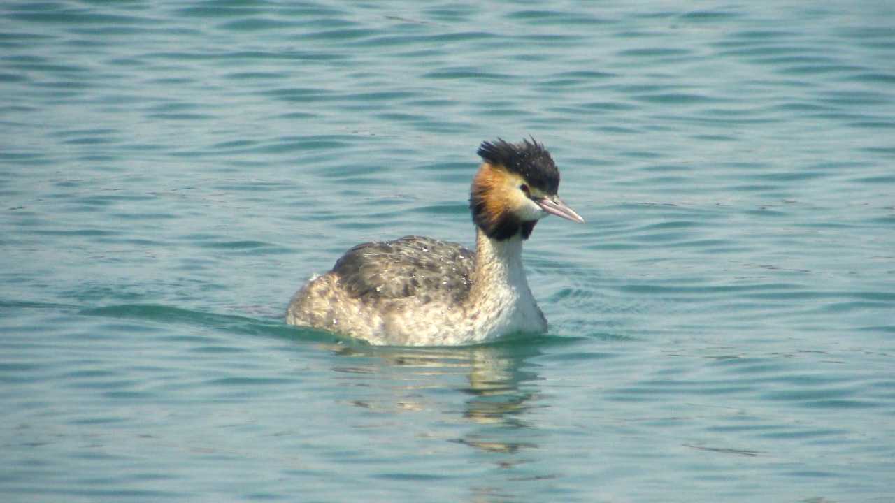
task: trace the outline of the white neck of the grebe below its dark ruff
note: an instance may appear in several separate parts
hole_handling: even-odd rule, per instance
[[[521,234],[497,240],[476,227],[475,270],[470,295],[473,300],[507,290],[516,298],[532,296],[522,265],[522,242]]]

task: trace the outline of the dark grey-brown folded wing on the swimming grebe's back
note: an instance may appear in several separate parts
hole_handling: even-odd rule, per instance
[[[469,294],[475,252],[457,243],[408,235],[394,241],[358,244],[333,272],[353,297],[368,301],[417,296],[453,302]]]

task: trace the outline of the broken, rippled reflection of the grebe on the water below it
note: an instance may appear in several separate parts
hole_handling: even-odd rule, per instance
[[[448,440],[487,452],[515,453],[538,447],[513,433],[535,428],[525,416],[540,396],[537,365],[528,362],[541,354],[537,339],[466,347],[345,345],[331,349],[356,359],[333,369],[350,374],[348,379],[362,388],[363,397],[352,400],[352,405],[379,413],[435,411],[446,416],[439,422],[481,425],[485,429]],[[371,393],[370,388],[380,392]],[[386,393],[381,392],[383,388]],[[444,389],[467,396],[461,410],[456,408],[456,394],[435,392]]]

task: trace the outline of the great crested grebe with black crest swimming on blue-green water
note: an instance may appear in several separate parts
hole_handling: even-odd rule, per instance
[[[475,252],[409,235],[358,244],[296,293],[286,322],[373,345],[469,345],[541,333],[522,242],[543,217],[584,222],[557,196],[559,171],[537,141],[484,141],[469,209]]]

